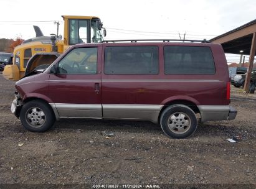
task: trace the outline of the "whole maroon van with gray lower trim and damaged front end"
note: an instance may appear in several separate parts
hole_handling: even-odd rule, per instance
[[[12,113],[33,132],[60,118],[132,119],[169,137],[199,121],[235,119],[224,51],[207,42],[73,45],[47,70],[16,83]],[[198,114],[198,116],[196,116]]]

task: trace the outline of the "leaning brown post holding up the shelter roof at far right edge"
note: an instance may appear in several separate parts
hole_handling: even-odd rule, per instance
[[[250,76],[252,75],[252,68],[254,67],[254,56],[256,52],[256,33],[252,37],[252,45],[250,47],[250,57],[249,57],[249,68],[246,73],[244,91],[245,93],[249,93],[250,86]]]

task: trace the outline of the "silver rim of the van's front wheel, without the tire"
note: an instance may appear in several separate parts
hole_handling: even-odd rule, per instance
[[[45,114],[42,109],[33,107],[27,110],[26,121],[32,127],[41,127],[45,123]]]

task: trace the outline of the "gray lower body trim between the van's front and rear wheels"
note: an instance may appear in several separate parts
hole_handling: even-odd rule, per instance
[[[137,119],[158,123],[163,105],[147,104],[62,104],[50,103],[56,119],[96,118],[96,119]]]

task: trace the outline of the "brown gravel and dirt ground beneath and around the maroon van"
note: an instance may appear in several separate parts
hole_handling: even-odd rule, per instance
[[[199,124],[193,136],[178,140],[139,121],[62,119],[47,132],[29,132],[10,112],[14,82],[0,75],[0,87],[0,188],[13,183],[21,184],[18,188],[102,183],[256,187],[254,94],[232,87],[231,105],[238,110],[234,121]],[[115,136],[106,137],[106,131]],[[238,143],[227,141],[234,136]]]

